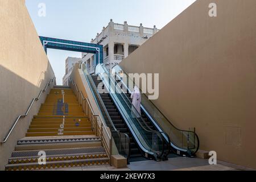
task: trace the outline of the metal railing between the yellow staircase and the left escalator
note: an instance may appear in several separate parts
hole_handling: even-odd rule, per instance
[[[105,123],[101,115],[96,115],[93,112],[92,106],[88,98],[84,98],[82,92],[77,88],[77,85],[73,82],[73,80],[69,77],[69,86],[73,90],[79,105],[82,106],[82,111],[88,116],[88,121],[92,123],[92,130],[96,134],[97,137],[101,138],[102,144],[108,154],[111,165],[111,155],[112,155],[112,136],[109,134]]]

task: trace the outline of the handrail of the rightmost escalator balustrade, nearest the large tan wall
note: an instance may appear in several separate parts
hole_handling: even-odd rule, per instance
[[[123,71],[123,69],[119,66],[119,65],[115,65],[114,67],[119,67],[121,70],[122,70],[122,72],[127,76],[127,77],[129,77],[128,76],[128,74],[125,72],[125,71]],[[114,67],[112,68],[112,69],[114,69]],[[117,75],[118,77],[119,77],[119,75]],[[120,77],[119,77],[120,78]],[[121,79],[120,79],[121,80]],[[122,80],[121,80],[122,81]],[[123,82],[122,82],[123,83]],[[133,82],[134,84],[135,84],[135,82]],[[123,83],[123,85],[125,85],[124,83]],[[126,85],[125,85],[126,86]],[[127,86],[126,86],[126,88],[127,88]],[[138,87],[139,88],[139,87]],[[129,89],[129,88],[127,88],[127,90],[129,91],[129,92],[131,92],[131,90]],[[139,90],[141,91],[141,93],[142,93],[142,90],[139,88]],[[146,95],[146,94],[144,94],[144,93],[142,93],[147,99],[148,99],[148,96]],[[170,123],[170,125],[172,126],[172,127],[174,127],[174,129],[176,129],[176,130],[178,130],[178,131],[181,131],[181,132],[187,132],[187,133],[193,133],[194,135],[195,135],[195,137],[196,137],[196,140],[197,140],[197,148],[196,148],[196,151],[194,152],[194,154],[199,150],[199,146],[200,146],[200,141],[199,141],[199,137],[198,137],[198,135],[196,134],[196,132],[195,131],[188,131],[188,130],[180,130],[180,129],[178,129],[176,126],[174,126],[170,121],[169,121],[169,119],[167,119],[167,117],[158,109],[158,107],[156,107],[155,106],[155,104],[151,101],[151,100],[149,100],[148,99],[148,101],[152,104],[152,106],[154,106],[155,107],[155,109],[160,113],[160,114],[162,114],[163,115],[163,117],[164,117],[164,119],[166,119],[166,121],[168,121],[168,123]],[[144,109],[146,110],[146,108],[144,107]],[[149,112],[148,112],[148,110],[147,110],[147,113],[148,114],[150,114]],[[150,114],[151,115],[151,114]],[[151,115],[151,117],[152,117],[152,115]],[[154,118],[154,117],[152,117],[152,118]]]

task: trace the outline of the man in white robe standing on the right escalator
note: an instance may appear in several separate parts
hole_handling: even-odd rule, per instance
[[[137,86],[134,87],[133,93],[131,93],[131,99],[133,100],[133,108],[131,108],[131,114],[135,118],[141,118],[141,92]]]

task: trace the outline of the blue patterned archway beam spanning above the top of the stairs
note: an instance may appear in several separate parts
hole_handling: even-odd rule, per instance
[[[47,48],[61,49],[65,51],[94,53],[96,56],[96,65],[103,63],[103,46],[100,44],[92,44],[85,42],[76,42],[73,40],[46,38],[39,36],[41,43],[44,47],[44,51],[47,53]]]

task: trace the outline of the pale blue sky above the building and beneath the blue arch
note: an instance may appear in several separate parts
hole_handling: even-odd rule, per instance
[[[39,36],[90,42],[108,26],[123,23],[161,29],[196,0],[26,0]],[[46,16],[39,16],[40,3],[46,5]],[[79,52],[47,50],[58,85],[65,75],[65,59],[81,57]]]

